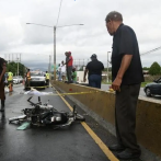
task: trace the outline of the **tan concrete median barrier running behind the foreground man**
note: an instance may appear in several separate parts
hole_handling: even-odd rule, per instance
[[[115,94],[101,91],[94,88],[77,84],[66,84],[54,82],[54,85],[70,92],[88,92],[92,94],[72,95],[83,105],[95,112],[107,123],[115,125]],[[161,101],[151,102],[148,99],[139,97],[137,106],[137,128],[138,142],[161,157]]]

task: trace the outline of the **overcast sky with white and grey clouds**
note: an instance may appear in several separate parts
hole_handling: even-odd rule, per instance
[[[21,54],[27,67],[46,69],[54,53],[54,30],[26,23],[56,25],[59,5],[60,0],[0,0],[0,56],[12,60]],[[58,26],[84,25],[57,28],[57,64],[70,50],[78,64],[96,54],[106,66],[113,37],[104,20],[114,10],[135,30],[140,54],[161,46],[160,0],[62,0]],[[161,65],[160,54],[161,49],[141,56],[142,66]]]

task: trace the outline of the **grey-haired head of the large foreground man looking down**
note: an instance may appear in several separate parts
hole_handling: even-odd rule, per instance
[[[119,12],[112,11],[106,15],[105,22],[110,35],[114,35],[118,26],[123,23],[123,16]]]

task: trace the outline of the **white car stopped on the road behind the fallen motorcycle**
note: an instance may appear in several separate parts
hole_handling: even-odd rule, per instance
[[[45,89],[46,85],[46,76],[42,71],[31,71],[31,87],[41,87]],[[26,83],[25,83],[25,88]]]

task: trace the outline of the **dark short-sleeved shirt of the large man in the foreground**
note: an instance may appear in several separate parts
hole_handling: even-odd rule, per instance
[[[120,24],[113,38],[112,77],[115,80],[124,55],[133,55],[122,84],[136,84],[145,81],[140,60],[139,47],[135,32],[127,25]]]

